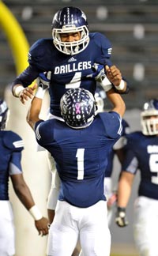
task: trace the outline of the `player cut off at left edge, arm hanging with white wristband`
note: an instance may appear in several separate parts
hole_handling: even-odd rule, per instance
[[[15,254],[15,230],[13,209],[9,201],[9,178],[13,189],[21,203],[35,220],[39,235],[48,234],[48,220],[43,217],[33,201],[32,194],[24,181],[21,170],[21,151],[24,142],[11,130],[5,130],[8,107],[6,101],[0,99],[0,255]]]

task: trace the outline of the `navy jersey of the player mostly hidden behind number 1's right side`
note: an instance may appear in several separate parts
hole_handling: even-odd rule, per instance
[[[125,121],[125,119],[122,119],[122,137],[125,137],[126,134],[129,134],[130,126],[128,122]],[[107,164],[107,169],[105,171],[105,177],[110,178],[112,175],[113,170],[113,163],[114,163],[114,156],[115,156],[115,150],[111,149],[111,152],[109,153],[109,159]]]

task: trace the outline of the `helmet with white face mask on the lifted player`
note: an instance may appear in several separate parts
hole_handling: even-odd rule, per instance
[[[81,40],[62,42],[61,33],[81,32]],[[52,37],[58,51],[66,55],[77,55],[85,50],[89,43],[88,23],[85,13],[76,7],[59,9],[52,21]]]

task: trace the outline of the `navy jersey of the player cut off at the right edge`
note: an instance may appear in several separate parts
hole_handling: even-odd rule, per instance
[[[158,199],[158,137],[145,136],[141,131],[126,136],[126,160],[123,171],[141,171],[138,194]]]

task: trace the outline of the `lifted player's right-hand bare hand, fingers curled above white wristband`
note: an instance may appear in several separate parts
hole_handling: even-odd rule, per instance
[[[105,70],[108,80],[111,81],[111,83],[117,88],[117,86],[119,86],[122,81],[122,73],[115,65],[111,67],[106,65]]]

